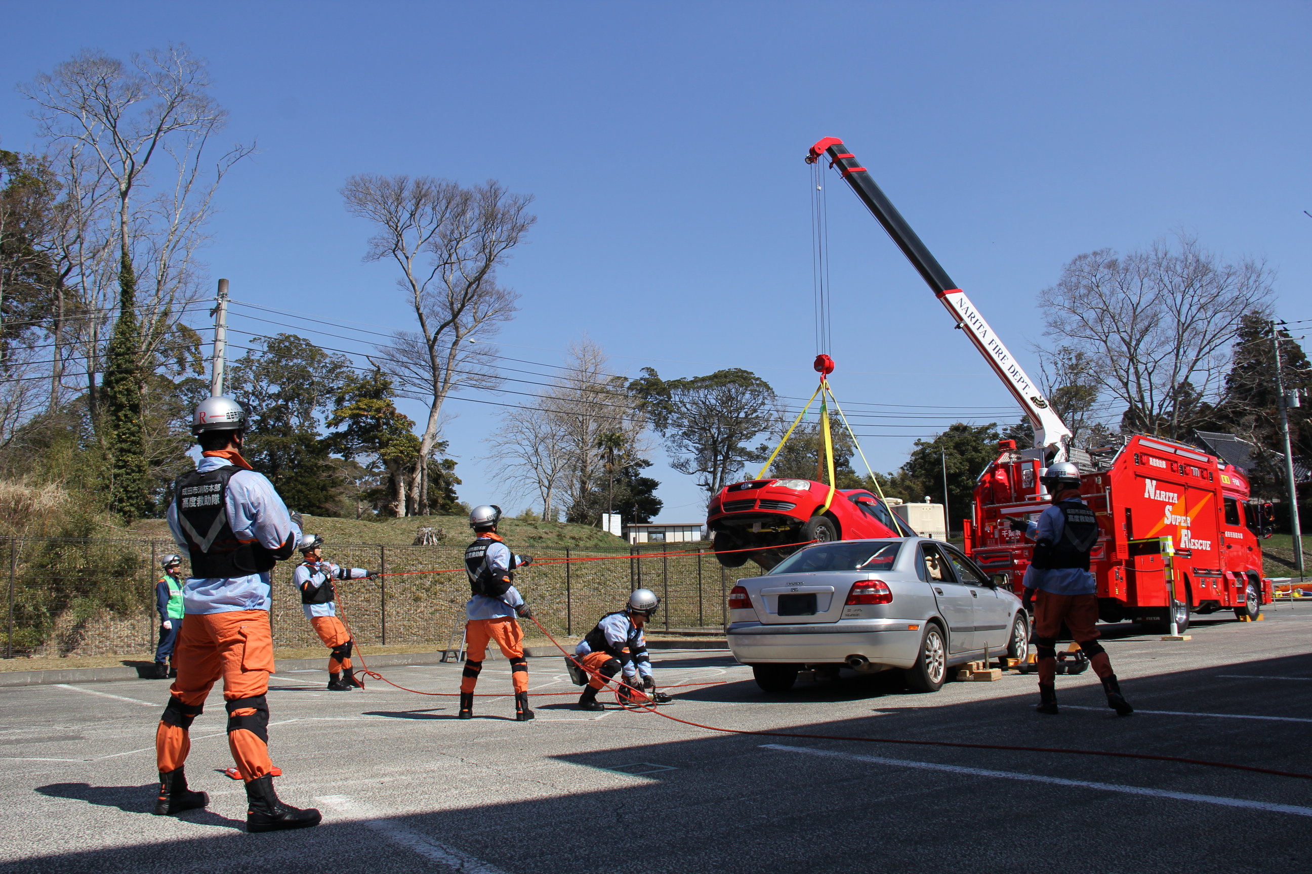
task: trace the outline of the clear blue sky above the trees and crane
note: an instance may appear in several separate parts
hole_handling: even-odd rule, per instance
[[[4,22],[0,83],[81,47],[173,41],[209,59],[227,138],[260,153],[224,183],[205,261],[237,300],[278,309],[408,326],[394,271],[361,262],[369,228],[342,181],[497,178],[538,215],[501,273],[522,295],[504,355],[555,364],[588,335],[614,372],[744,367],[806,397],[802,156],[840,136],[1031,373],[1034,295],[1064,262],[1177,229],[1265,257],[1279,314],[1312,317],[1307,3],[47,1],[7,4]],[[25,113],[0,88],[0,147],[35,145]],[[836,392],[947,417],[869,428],[892,435],[863,439],[871,463],[896,468],[955,418],[1018,418],[830,183]],[[234,342],[265,330],[282,329],[232,320]],[[367,334],[316,338],[365,350]],[[497,410],[447,405],[471,503],[500,498],[480,461]],[[660,519],[701,519],[691,477],[653,460]]]

